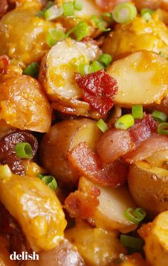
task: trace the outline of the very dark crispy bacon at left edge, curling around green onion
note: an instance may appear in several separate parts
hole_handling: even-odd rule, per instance
[[[0,139],[0,164],[8,164],[14,174],[25,174],[25,159],[19,158],[15,152],[18,142],[28,142],[31,144],[33,156],[38,149],[38,142],[32,134],[28,132],[12,132]]]

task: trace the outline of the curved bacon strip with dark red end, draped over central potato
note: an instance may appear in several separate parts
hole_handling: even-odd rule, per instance
[[[122,161],[102,164],[98,155],[85,143],[80,143],[78,147],[70,151],[68,159],[80,171],[80,174],[102,186],[115,188],[125,183],[127,176],[125,164]]]

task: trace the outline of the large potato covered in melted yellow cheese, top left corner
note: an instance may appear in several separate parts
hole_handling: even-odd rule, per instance
[[[40,10],[38,1],[27,1],[0,21],[0,54],[8,55],[23,68],[41,60],[48,50],[46,32],[56,28],[56,23],[35,16]]]

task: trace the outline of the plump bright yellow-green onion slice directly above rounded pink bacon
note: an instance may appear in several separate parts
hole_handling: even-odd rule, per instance
[[[117,121],[115,122],[116,129],[127,130],[132,127],[135,123],[134,117],[132,115],[122,115]]]

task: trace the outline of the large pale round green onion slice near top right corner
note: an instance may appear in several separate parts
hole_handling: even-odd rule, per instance
[[[117,23],[127,23],[135,16],[137,16],[137,9],[131,3],[118,4],[112,11],[112,17]]]

